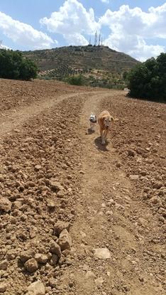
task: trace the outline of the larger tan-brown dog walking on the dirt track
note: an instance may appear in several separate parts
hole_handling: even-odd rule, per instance
[[[114,117],[108,111],[103,111],[99,114],[98,123],[100,127],[101,144],[106,144],[106,137],[111,127],[111,122],[114,122]]]

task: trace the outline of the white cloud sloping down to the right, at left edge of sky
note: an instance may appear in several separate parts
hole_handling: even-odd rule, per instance
[[[47,34],[35,30],[27,23],[16,21],[11,16],[0,11],[0,30],[16,44],[26,45],[28,48],[50,48],[54,43]]]

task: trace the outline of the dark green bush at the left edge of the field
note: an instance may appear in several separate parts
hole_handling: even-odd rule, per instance
[[[0,77],[16,80],[31,80],[37,76],[37,66],[32,60],[23,58],[18,51],[0,50]]]

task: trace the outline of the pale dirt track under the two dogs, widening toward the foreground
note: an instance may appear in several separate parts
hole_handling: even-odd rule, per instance
[[[121,170],[111,142],[101,146],[98,128],[87,134],[89,110],[99,114],[100,104],[101,97],[93,96],[80,117],[82,191],[71,230],[75,257],[62,277],[71,286],[65,294],[164,295],[157,270],[162,269],[158,253],[165,247],[156,249],[156,257],[148,251],[149,229],[153,231],[157,220],[135,200],[133,184]],[[97,248],[109,250],[110,258],[96,258]]]

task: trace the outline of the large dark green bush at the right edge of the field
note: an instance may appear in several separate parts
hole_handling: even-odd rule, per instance
[[[166,102],[166,53],[136,65],[128,81],[131,97]]]

